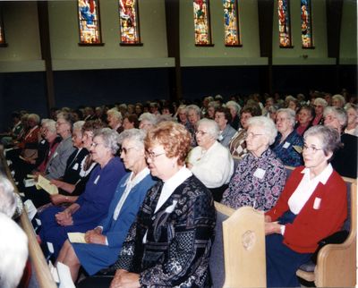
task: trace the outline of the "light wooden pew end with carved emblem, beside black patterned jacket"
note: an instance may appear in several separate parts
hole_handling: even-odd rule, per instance
[[[234,210],[217,202],[215,207],[217,234],[210,257],[213,287],[266,287],[263,213],[251,207]],[[225,268],[220,255],[224,255]]]

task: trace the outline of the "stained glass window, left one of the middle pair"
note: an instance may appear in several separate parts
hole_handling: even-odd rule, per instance
[[[211,45],[209,0],[193,0],[195,45]]]

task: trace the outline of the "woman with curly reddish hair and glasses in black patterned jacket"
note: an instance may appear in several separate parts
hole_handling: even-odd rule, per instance
[[[216,216],[210,192],[184,165],[189,132],[179,123],[159,123],[145,147],[150,173],[161,181],[127,234],[111,287],[208,287]],[[103,287],[111,280],[104,277]]]

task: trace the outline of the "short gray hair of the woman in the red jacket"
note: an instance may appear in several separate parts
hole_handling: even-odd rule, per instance
[[[337,148],[339,148],[341,145],[338,131],[328,126],[323,126],[323,125],[312,126],[309,130],[304,132],[303,140],[306,140],[307,137],[310,136],[315,136],[320,138],[322,149],[326,156],[328,156],[329,152],[332,153],[335,152]]]

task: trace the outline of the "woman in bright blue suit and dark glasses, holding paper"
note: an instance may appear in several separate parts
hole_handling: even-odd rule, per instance
[[[138,129],[121,133],[121,158],[125,168],[132,172],[125,174],[118,183],[107,217],[95,229],[86,232],[87,243],[64,242],[57,261],[70,267],[73,281],[77,279],[80,266],[93,275],[115,263],[145,195],[155,183],[144,157],[145,136],[145,132]]]

